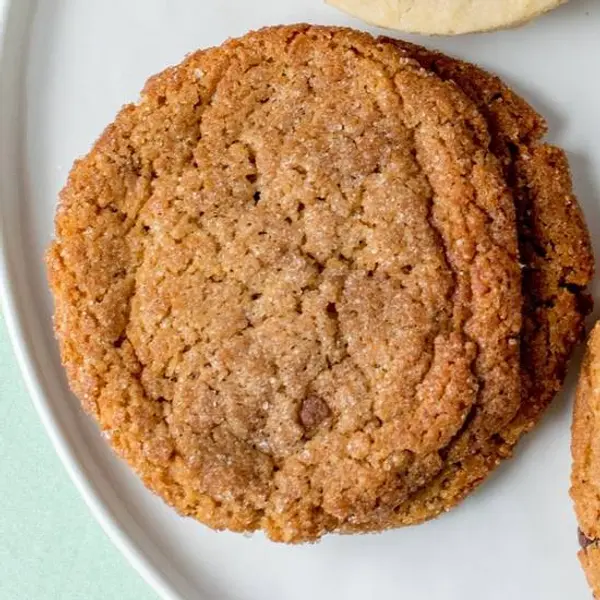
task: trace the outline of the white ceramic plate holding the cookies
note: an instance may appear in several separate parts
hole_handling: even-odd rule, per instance
[[[73,160],[121,104],[136,98],[149,75],[191,50],[266,24],[360,23],[321,0],[2,4],[5,315],[31,395],[74,483],[158,593],[186,600],[588,598],[567,495],[572,381],[521,444],[517,459],[456,511],[417,528],[291,548],[261,536],[216,534],[177,517],[111,454],[65,384],[52,337],[43,253],[57,192]],[[496,70],[547,115],[552,139],[570,152],[577,192],[597,234],[598,2],[572,0],[516,31],[428,43]]]

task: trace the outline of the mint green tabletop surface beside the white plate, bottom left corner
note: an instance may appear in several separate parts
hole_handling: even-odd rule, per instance
[[[0,600],[157,600],[71,484],[0,315]]]

